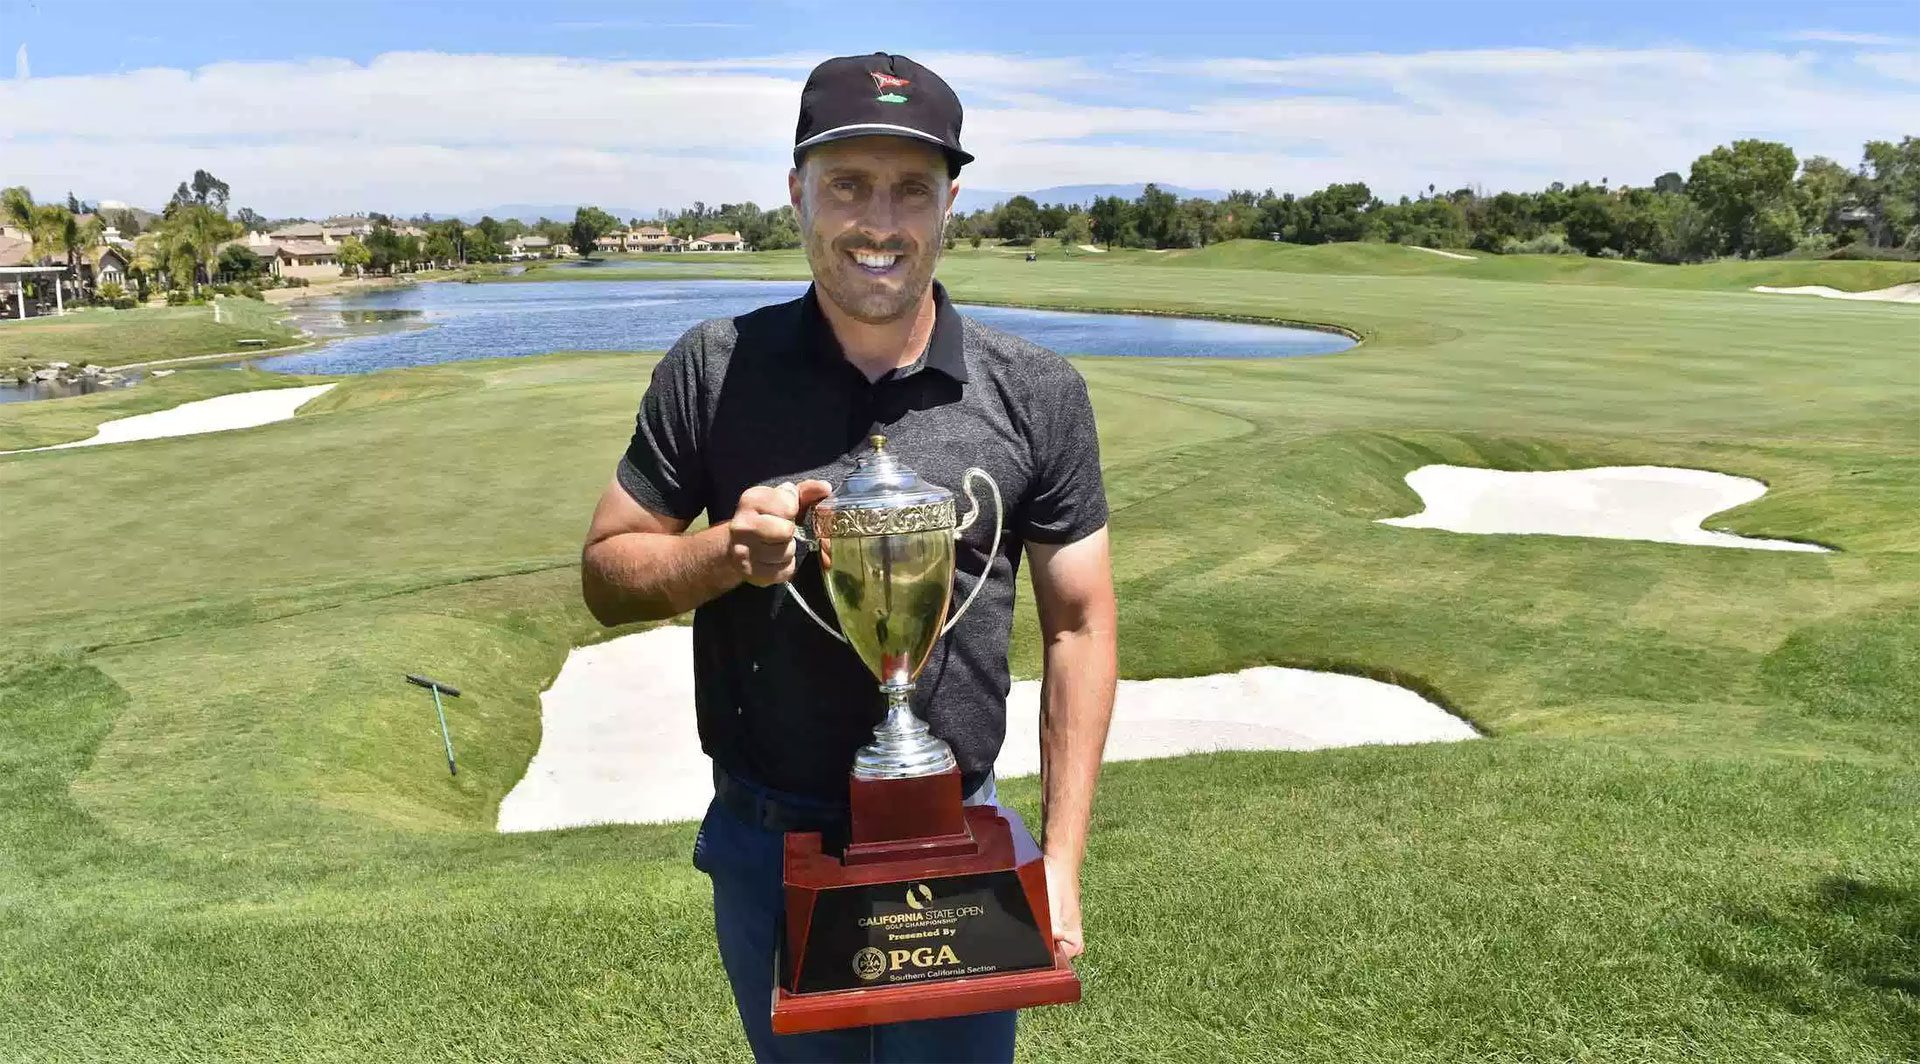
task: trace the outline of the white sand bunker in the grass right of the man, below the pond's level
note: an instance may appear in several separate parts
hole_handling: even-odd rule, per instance
[[[1505,472],[1423,465],[1407,474],[1427,509],[1380,524],[1448,532],[1594,536],[1757,551],[1826,551],[1814,544],[1707,532],[1707,517],[1766,494],[1766,484],[1705,469],[1613,465]]]

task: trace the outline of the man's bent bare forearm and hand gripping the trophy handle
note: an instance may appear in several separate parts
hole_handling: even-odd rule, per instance
[[[749,488],[730,520],[685,534],[685,520],[636,503],[614,478],[580,549],[580,593],[593,618],[612,628],[678,617],[741,582],[764,588],[787,580],[793,520],[828,492],[822,480]]]

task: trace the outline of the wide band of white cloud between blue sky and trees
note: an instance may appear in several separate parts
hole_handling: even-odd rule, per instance
[[[1515,48],[1164,61],[924,56],[968,106],[983,188],[1165,181],[1402,194],[1649,182],[1715,144],[1841,161],[1920,129],[1916,56]],[[0,83],[0,182],[157,204],[194,169],[265,213],[497,202],[785,202],[814,56],[394,52]],[[1878,75],[1878,77],[1876,77]]]

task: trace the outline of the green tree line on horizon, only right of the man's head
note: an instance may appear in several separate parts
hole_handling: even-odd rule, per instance
[[[1920,257],[1920,138],[1872,140],[1859,167],[1770,140],[1736,140],[1697,159],[1682,177],[1649,186],[1582,181],[1540,192],[1478,188],[1388,204],[1365,182],[1336,182],[1296,196],[1233,190],[1223,200],[1181,200],[1158,184],[1140,196],[1037,204],[1014,196],[956,215],[948,238],[1106,248],[1204,248],[1223,240],[1332,244],[1377,240],[1492,254],[1586,254],[1659,263],[1722,255]]]

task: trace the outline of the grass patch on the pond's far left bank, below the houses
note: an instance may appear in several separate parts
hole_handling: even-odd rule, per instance
[[[280,307],[259,300],[219,300],[198,307],[134,307],[129,311],[84,307],[61,317],[0,321],[0,369],[48,361],[104,367],[184,355],[240,351],[240,340],[265,340],[261,348],[286,348],[300,336],[282,321]]]

